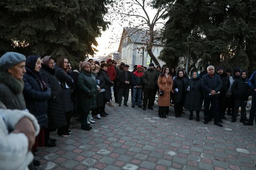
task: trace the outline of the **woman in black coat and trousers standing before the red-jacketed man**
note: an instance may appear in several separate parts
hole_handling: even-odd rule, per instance
[[[111,99],[111,86],[114,85],[114,83],[110,80],[108,73],[108,64],[107,63],[102,63],[100,65],[100,74],[104,77],[105,80],[105,92],[104,92],[104,103],[109,102]],[[103,106],[103,115],[109,115],[108,113],[105,112],[105,104]]]

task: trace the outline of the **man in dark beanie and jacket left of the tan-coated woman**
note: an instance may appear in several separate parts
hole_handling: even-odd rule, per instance
[[[153,110],[153,101],[155,100],[156,93],[154,94],[154,90],[156,89],[156,83],[158,80],[157,72],[154,70],[154,64],[149,64],[149,69],[147,69],[143,74],[143,83],[144,83],[144,91],[143,91],[143,110],[146,110],[146,106],[148,103],[148,109]]]

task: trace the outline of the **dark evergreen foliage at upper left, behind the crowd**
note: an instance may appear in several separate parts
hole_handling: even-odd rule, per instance
[[[0,2],[0,56],[67,56],[73,62],[93,55],[95,38],[108,28],[109,0],[3,0]]]

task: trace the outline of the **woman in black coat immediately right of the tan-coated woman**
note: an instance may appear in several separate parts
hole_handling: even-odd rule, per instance
[[[179,70],[177,72],[177,78],[173,80],[173,92],[174,92],[174,111],[175,117],[181,117],[183,105],[186,98],[185,86],[188,79],[183,76],[183,71]]]

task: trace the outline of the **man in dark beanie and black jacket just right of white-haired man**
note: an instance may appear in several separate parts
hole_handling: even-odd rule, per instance
[[[220,95],[219,95],[219,121],[223,123],[222,119],[227,120],[225,116],[225,99],[226,99],[226,93],[230,86],[230,82],[229,82],[227,73],[223,73],[223,67],[217,68],[217,74],[220,76],[220,79],[222,82],[222,87],[220,89]]]

